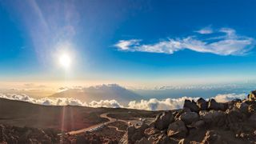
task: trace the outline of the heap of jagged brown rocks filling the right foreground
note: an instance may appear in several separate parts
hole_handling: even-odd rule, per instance
[[[186,100],[150,126],[129,126],[120,143],[256,143],[256,91],[244,100]]]

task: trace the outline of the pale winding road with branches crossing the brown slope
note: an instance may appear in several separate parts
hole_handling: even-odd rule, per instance
[[[106,126],[106,125],[108,125],[108,124],[110,124],[110,123],[112,123],[112,122],[117,122],[117,121],[128,123],[127,121],[122,120],[122,119],[110,118],[110,117],[107,116],[107,114],[109,114],[109,113],[101,114],[100,117],[101,117],[101,118],[107,118],[107,119],[109,119],[109,122],[102,122],[102,123],[100,123],[100,124],[97,124],[97,125],[94,125],[94,126],[90,126],[90,127],[87,127],[87,128],[81,129],[81,130],[70,131],[70,132],[67,132],[66,134],[71,134],[71,135],[74,135],[74,134],[81,134],[81,133],[84,133],[84,132],[87,131],[87,130],[96,128],[96,127],[98,127],[98,126],[103,126],[103,125]],[[109,126],[109,127],[110,127],[110,126]],[[111,127],[113,127],[113,128],[115,128],[116,130],[118,130],[118,128],[115,127],[115,126],[111,126]],[[122,130],[118,130],[118,131],[122,131]]]

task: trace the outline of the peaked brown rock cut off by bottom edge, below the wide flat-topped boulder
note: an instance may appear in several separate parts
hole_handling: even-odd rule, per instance
[[[209,144],[222,144],[226,143],[222,140],[222,137],[220,134],[215,132],[214,130],[208,130],[206,132],[205,138],[203,138],[202,143],[209,143]]]

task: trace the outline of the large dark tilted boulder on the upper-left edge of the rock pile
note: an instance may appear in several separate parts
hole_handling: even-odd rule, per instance
[[[165,130],[171,122],[174,122],[173,114],[170,111],[165,111],[155,118],[154,127],[158,130]]]

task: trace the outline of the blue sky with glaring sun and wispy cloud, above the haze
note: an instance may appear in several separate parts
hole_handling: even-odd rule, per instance
[[[253,0],[0,0],[0,82],[254,81],[255,6]]]

